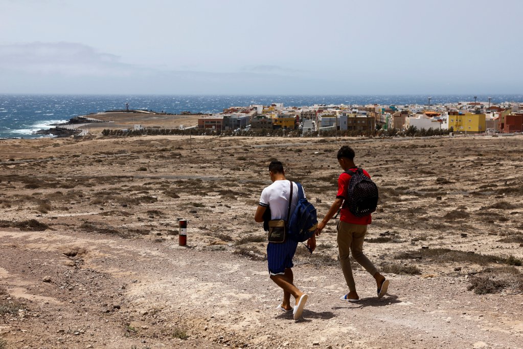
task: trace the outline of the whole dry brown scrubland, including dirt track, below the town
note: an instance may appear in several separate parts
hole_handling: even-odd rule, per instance
[[[337,149],[380,188],[345,303],[335,221],[275,309],[254,222],[281,160],[320,219]],[[0,141],[0,349],[523,347],[523,136],[366,140],[139,137]],[[190,149],[192,148],[192,152]],[[189,247],[178,246],[188,219]]]

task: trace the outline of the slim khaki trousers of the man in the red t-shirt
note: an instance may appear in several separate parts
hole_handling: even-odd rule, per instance
[[[356,291],[356,284],[353,277],[353,269],[350,267],[349,250],[353,253],[353,258],[366,269],[370,275],[374,276],[378,269],[363,254],[363,239],[367,233],[367,226],[363,224],[351,224],[339,221],[338,231],[338,250],[339,261],[342,264],[343,276],[351,292]]]

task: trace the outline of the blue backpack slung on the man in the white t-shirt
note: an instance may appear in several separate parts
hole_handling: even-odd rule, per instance
[[[288,223],[289,237],[298,242],[309,240],[314,235],[318,226],[316,217],[316,208],[312,205],[303,194],[303,187],[300,183],[298,186],[298,204],[292,212]]]

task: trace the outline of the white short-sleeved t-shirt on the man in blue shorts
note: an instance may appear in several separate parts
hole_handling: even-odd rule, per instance
[[[292,203],[291,213],[298,204],[298,186],[292,183]],[[260,206],[270,207],[270,219],[285,219],[287,220],[287,212],[289,211],[289,194],[291,186],[290,181],[274,181],[271,185],[263,189],[260,197]],[[305,190],[303,190],[305,196]]]

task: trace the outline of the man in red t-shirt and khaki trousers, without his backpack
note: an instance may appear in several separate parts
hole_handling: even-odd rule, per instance
[[[338,163],[343,168],[344,171],[347,170],[357,170],[357,166],[354,163],[354,150],[347,145],[344,145],[338,151]],[[367,171],[363,170],[363,174],[370,178],[370,175]],[[338,177],[338,194],[336,195],[336,200],[334,200],[331,208],[328,210],[327,215],[323,218],[318,224],[316,229],[316,235],[320,235],[323,228],[327,222],[334,217],[336,212],[340,207],[342,207],[337,225],[338,231],[338,250],[339,250],[339,260],[342,264],[343,275],[345,276],[345,281],[349,287],[349,293],[340,297],[340,299],[357,302],[359,301],[359,296],[356,292],[356,284],[354,282],[353,271],[350,268],[350,258],[349,250],[352,251],[354,259],[363,266],[367,272],[369,272],[374,279],[376,279],[376,284],[378,286],[378,298],[381,298],[385,295],[388,287],[389,280],[385,280],[385,277],[378,272],[378,269],[368,260],[368,258],[363,254],[363,239],[367,233],[367,226],[370,224],[372,218],[369,215],[364,217],[354,216],[348,207],[345,205],[342,206],[344,200],[347,198],[347,188],[349,185],[351,175],[344,172]]]

